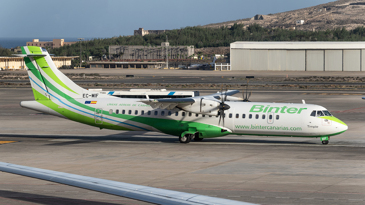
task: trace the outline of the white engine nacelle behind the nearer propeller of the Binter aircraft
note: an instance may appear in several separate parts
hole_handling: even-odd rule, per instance
[[[200,101],[194,102],[193,104],[189,104],[185,107],[177,107],[186,112],[217,116],[219,113],[219,104],[220,102],[215,100],[200,98]]]

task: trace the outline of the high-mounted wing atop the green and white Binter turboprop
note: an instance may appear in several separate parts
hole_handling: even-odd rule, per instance
[[[161,108],[161,109],[173,109],[177,105],[188,105],[194,102],[200,101],[201,98],[210,99],[210,100],[219,100],[220,97],[223,96],[231,96],[236,93],[239,93],[239,90],[227,90],[223,92],[218,92],[214,94],[210,94],[207,96],[196,96],[196,97],[186,97],[186,98],[166,98],[166,99],[149,99],[142,100],[147,105],[150,105],[152,108]],[[184,107],[184,106],[183,106]]]

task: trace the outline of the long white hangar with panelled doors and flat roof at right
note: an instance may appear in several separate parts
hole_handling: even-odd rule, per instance
[[[231,70],[365,71],[365,42],[234,42]]]

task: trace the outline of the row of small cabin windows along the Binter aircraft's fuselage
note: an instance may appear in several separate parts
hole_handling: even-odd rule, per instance
[[[112,114],[113,113],[113,110],[110,109],[109,110],[109,114]],[[125,110],[122,110],[122,114],[125,114],[126,111]],[[119,114],[119,110],[115,110],[115,114]],[[131,110],[128,110],[128,115],[131,115],[132,114],[132,111]],[[141,115],[144,115],[145,114],[145,111],[141,111]],[[135,110],[134,111],[134,115],[138,115],[138,110]],[[151,111],[147,111],[147,115],[151,115]],[[154,115],[158,115],[158,111],[154,111]],[[165,115],[165,111],[161,111],[161,116],[164,116]],[[171,111],[168,111],[167,112],[167,115],[168,116],[171,116],[172,115],[172,112]],[[179,115],[179,112],[175,112],[174,113],[175,116],[178,116]],[[181,116],[185,116],[185,112],[181,112]],[[188,113],[188,116],[192,116],[192,113],[189,112]],[[199,114],[195,114],[195,117],[198,117]],[[205,117],[205,115],[201,115],[202,117]],[[209,117],[212,117],[211,115],[209,115]],[[219,116],[215,116],[215,117],[219,117]],[[226,117],[226,113],[224,113],[223,117]],[[229,118],[232,118],[233,117],[233,114],[232,113],[229,113],[228,115]],[[236,118],[239,118],[239,114],[236,114]],[[246,118],[246,114],[242,114],[242,118]],[[249,114],[249,119],[252,118],[252,114]],[[258,119],[259,118],[259,115],[256,114],[255,115],[255,119]],[[261,116],[262,119],[265,119],[266,118],[266,115],[262,115]],[[269,115],[269,119],[272,120],[273,119],[273,115]],[[279,119],[279,115],[276,115],[276,119],[278,120]]]

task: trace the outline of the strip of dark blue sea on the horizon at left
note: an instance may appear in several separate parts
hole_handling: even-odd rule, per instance
[[[39,41],[52,41],[53,39],[65,39],[65,42],[72,42],[72,41],[79,41],[77,40],[77,37],[45,37],[45,38],[31,38],[31,37],[17,37],[17,38],[13,38],[13,37],[0,37],[0,46],[7,48],[7,49],[11,49],[11,48],[15,48],[17,46],[26,46],[26,43],[28,41],[32,41],[33,39],[39,39]],[[80,38],[80,37],[79,37]],[[92,37],[90,38],[86,38],[84,37],[85,40],[91,40]]]

